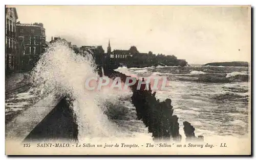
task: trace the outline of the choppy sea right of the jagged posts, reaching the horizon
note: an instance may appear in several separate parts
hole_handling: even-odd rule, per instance
[[[156,91],[160,101],[172,99],[174,115],[190,122],[197,136],[243,136],[248,134],[249,71],[248,67],[119,67],[116,71],[141,77],[166,76],[167,90]],[[241,75],[237,78],[232,78]],[[206,77],[230,78],[229,83],[197,82]],[[246,77],[247,78],[244,78]],[[214,80],[213,80],[214,81]],[[183,132],[181,130],[180,132]]]

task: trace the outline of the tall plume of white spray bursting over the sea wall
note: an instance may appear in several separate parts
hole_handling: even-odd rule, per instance
[[[98,77],[91,54],[77,55],[62,43],[53,43],[41,56],[32,72],[34,92],[44,97],[70,96],[71,108],[76,115],[78,139],[122,135],[119,128],[104,115],[104,100],[120,94],[88,91],[84,83],[88,77]]]

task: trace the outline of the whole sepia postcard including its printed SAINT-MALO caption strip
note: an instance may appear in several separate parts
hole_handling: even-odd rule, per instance
[[[6,155],[251,155],[251,6],[5,6]]]

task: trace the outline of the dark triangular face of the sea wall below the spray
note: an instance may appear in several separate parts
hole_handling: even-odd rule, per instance
[[[76,116],[70,108],[66,97],[25,138],[29,141],[67,140],[77,141],[78,125]]]

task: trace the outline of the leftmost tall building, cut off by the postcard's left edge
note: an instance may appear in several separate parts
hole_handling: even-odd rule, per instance
[[[5,22],[5,71],[14,72],[17,66],[17,30],[18,19],[16,8],[6,8]]]

